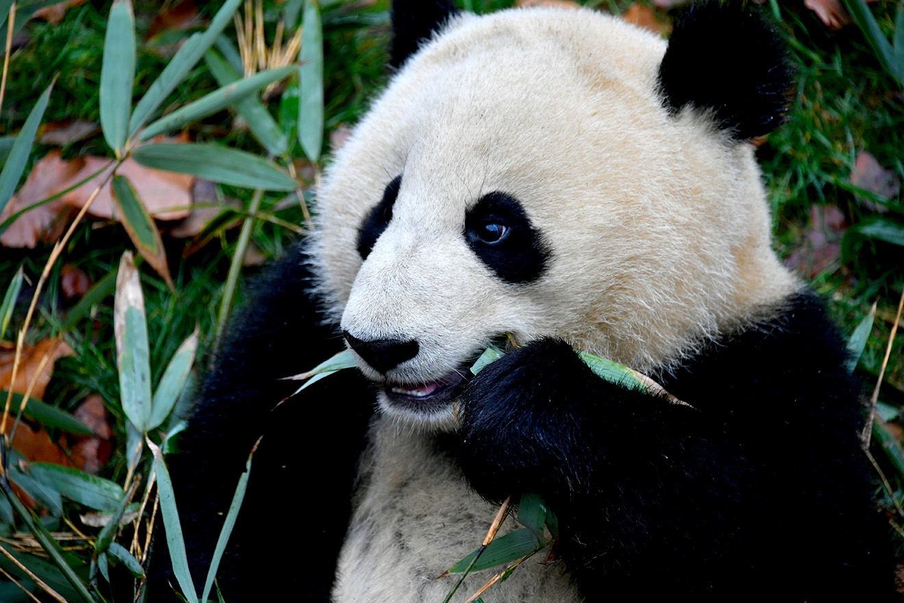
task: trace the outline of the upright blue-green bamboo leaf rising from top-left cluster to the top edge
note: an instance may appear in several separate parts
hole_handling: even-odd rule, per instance
[[[126,146],[135,87],[135,15],[130,0],[115,0],[107,20],[100,68],[100,128],[119,156]]]

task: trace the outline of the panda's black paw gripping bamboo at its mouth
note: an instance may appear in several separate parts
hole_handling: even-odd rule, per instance
[[[608,409],[629,393],[598,378],[565,342],[524,345],[468,384],[459,465],[490,501],[527,492],[570,498],[592,483]]]

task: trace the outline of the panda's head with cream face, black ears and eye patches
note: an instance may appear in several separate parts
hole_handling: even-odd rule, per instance
[[[328,170],[310,248],[385,413],[453,426],[501,334],[668,371],[797,287],[749,145],[789,85],[758,18],[702,5],[666,44],[586,10],[394,13],[399,69]]]

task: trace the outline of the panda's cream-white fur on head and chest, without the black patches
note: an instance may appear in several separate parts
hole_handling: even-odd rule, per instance
[[[393,381],[438,380],[504,333],[667,371],[798,287],[770,247],[753,149],[663,108],[664,51],[586,10],[466,15],[391,80],[328,171],[312,249],[344,330],[418,340]],[[362,261],[358,229],[398,174],[392,220]],[[536,282],[504,283],[466,244],[466,209],[494,191],[523,204],[551,249]],[[381,408],[335,598],[442,600],[448,583],[431,579],[476,547],[494,510],[424,442],[454,428],[451,407]],[[527,576],[492,598],[572,600],[559,571],[515,572]]]

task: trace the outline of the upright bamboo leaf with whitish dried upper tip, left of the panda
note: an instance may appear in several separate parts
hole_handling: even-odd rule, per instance
[[[145,299],[132,254],[122,254],[113,304],[113,333],[119,368],[119,397],[129,422],[140,432],[151,416],[151,369]]]

